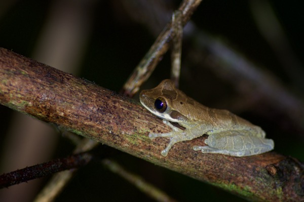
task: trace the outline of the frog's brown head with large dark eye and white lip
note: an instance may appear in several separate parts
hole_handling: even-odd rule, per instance
[[[157,87],[142,90],[140,103],[152,114],[172,122],[182,122],[187,118],[182,114],[184,94],[175,88],[169,79],[162,81]]]

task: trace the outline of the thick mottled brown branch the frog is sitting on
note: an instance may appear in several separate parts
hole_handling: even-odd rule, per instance
[[[274,152],[237,158],[192,150],[202,138],[174,145],[164,158],[168,140],[147,134],[170,128],[138,102],[4,48],[0,103],[247,199],[303,199],[303,165],[296,160]]]

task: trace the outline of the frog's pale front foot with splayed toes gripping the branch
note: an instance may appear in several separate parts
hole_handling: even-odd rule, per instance
[[[168,132],[168,133],[150,133],[149,138],[154,139],[156,137],[170,137],[169,144],[167,145],[167,147],[164,150],[162,150],[162,153],[161,153],[164,157],[166,157],[168,155],[170,148],[175,143],[182,141],[180,138],[178,138],[178,136],[179,136],[178,134],[182,133],[183,130],[173,126],[168,120],[163,120],[163,123],[166,124],[167,126],[169,126],[170,128],[172,128],[172,131]]]

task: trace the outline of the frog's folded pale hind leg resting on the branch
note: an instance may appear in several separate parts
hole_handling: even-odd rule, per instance
[[[211,134],[205,143],[208,146],[194,146],[193,149],[202,150],[202,153],[245,157],[265,153],[274,148],[272,139],[243,135],[237,131]]]

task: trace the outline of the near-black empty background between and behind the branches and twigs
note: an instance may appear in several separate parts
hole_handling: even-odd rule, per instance
[[[24,0],[16,1],[6,7],[0,3],[0,46],[32,58],[33,49],[55,1]],[[139,63],[155,40],[155,35],[134,21],[125,11],[120,1],[92,1],[92,27],[87,44],[84,46],[84,58],[80,64],[79,77],[94,81],[110,90],[119,91],[132,70]],[[178,8],[180,1],[165,1],[172,10]],[[269,1],[280,21],[287,40],[293,48],[294,56],[303,63],[303,23],[300,1]],[[7,8],[7,9],[5,9]],[[168,19],[169,20],[169,19]],[[294,85],[293,79],[286,74],[269,43],[263,38],[253,21],[249,1],[206,0],[195,12],[193,22],[211,36],[218,38],[238,50],[244,58],[257,64],[263,71],[274,75],[286,89],[302,98],[302,90]],[[163,22],[164,24],[168,22]],[[158,31],[156,31],[158,32]],[[186,54],[191,43],[185,42]],[[183,62],[182,62],[183,63]],[[185,62],[186,63],[186,62]],[[185,67],[182,67],[185,68]],[[238,96],[234,86],[201,67],[186,67],[187,77],[181,75],[181,89],[206,106],[230,109],[225,99]],[[303,70],[303,69],[302,69]],[[167,54],[158,65],[149,83],[144,88],[154,87],[159,81],[169,77],[170,58]],[[182,70],[183,72],[183,70]],[[304,75],[303,75],[304,76]],[[193,83],[187,78],[192,77]],[[198,81],[200,80],[200,81]],[[261,81],[263,82],[263,81]],[[200,83],[200,85],[196,85]],[[201,83],[204,83],[201,85]],[[190,87],[187,87],[189,85]],[[189,88],[189,89],[187,89]],[[273,103],[275,106],[276,103]],[[288,109],[286,109],[288,110]],[[280,128],[276,121],[260,117],[252,111],[235,111],[240,116],[260,125],[275,140],[275,151],[295,157],[301,161],[303,156],[302,131],[293,130],[287,124]],[[12,110],[0,106],[0,146],[7,135]],[[272,111],[270,111],[272,113]],[[275,115],[274,115],[275,116]],[[16,126],[18,127],[18,126]],[[72,150],[72,145],[64,138],[54,153],[54,158],[64,157]],[[161,148],[160,148],[161,151]],[[22,158],[22,157],[20,157]],[[165,190],[173,198],[181,201],[243,201],[225,191],[199,182],[186,176],[151,165],[127,154],[113,156],[126,169],[141,175],[148,182]],[[18,160],[16,160],[18,161]],[[31,166],[31,165],[28,165]],[[100,164],[94,162],[79,170],[68,187],[56,201],[122,201],[150,200],[133,185],[121,177],[112,174]]]

